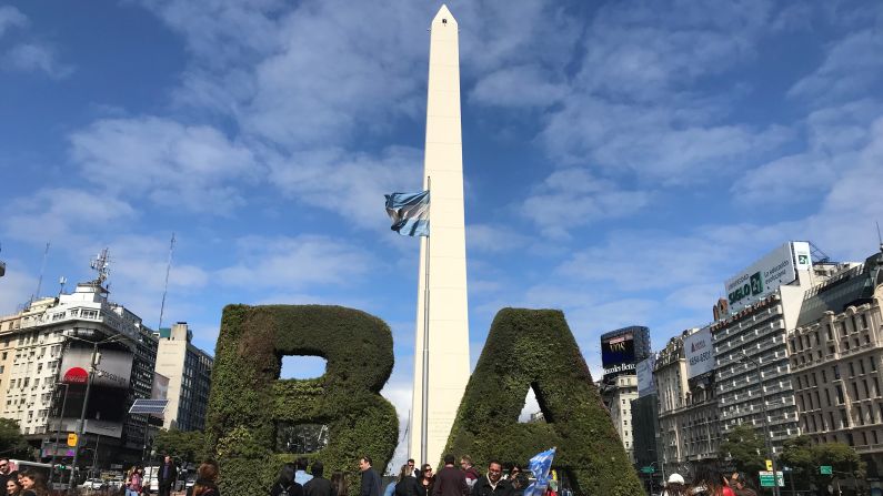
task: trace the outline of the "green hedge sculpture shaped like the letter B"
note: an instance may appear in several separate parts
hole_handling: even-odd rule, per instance
[[[325,374],[280,379],[282,357],[321,356]],[[324,305],[228,305],[214,355],[207,438],[221,468],[222,494],[263,496],[300,454],[274,453],[277,423],[325,424],[328,446],[309,456],[325,474],[347,472],[358,493],[362,455],[382,470],[395,449],[395,408],[380,389],[392,372],[392,334],[383,321]]]

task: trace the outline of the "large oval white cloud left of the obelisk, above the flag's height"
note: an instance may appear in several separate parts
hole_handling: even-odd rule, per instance
[[[214,128],[169,119],[100,120],[70,141],[86,179],[113,194],[194,212],[223,214],[242,205],[239,185],[263,174],[247,145]]]

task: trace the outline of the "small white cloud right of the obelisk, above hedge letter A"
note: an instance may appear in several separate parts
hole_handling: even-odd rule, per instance
[[[629,216],[649,200],[646,192],[622,190],[585,169],[565,169],[549,175],[521,210],[543,233],[561,237],[572,229],[601,219]]]

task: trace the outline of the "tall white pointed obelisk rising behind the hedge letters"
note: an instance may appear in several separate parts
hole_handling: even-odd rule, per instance
[[[460,48],[456,20],[446,6],[435,14],[430,31],[423,159],[423,188],[430,190],[430,236],[421,237],[420,242],[410,455],[419,463],[435,466],[469,382],[469,316]],[[423,456],[424,356],[428,356],[427,456],[419,459]]]

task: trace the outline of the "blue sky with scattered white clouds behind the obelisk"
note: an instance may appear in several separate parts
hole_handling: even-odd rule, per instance
[[[108,247],[111,298],[157,327],[174,233],[163,326],[211,352],[229,303],[363,310],[392,328],[383,395],[407,419],[419,244],[383,194],[420,189],[440,7],[0,3],[0,314],[47,243],[41,295]],[[883,3],[449,8],[473,365],[505,306],[563,310],[600,377],[600,334],[646,325],[662,348],[789,240],[877,250]]]

